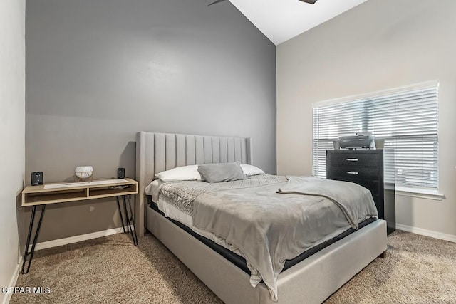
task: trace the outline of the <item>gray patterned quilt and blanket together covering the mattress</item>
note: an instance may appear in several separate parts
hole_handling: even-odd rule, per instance
[[[313,191],[314,184],[324,187],[304,196],[278,194],[279,187],[290,185],[292,179],[261,174],[214,184],[170,182],[155,189],[151,185],[147,193],[158,196],[158,209],[168,218],[245,258],[252,286],[263,280],[276,299],[276,278],[285,260],[335,239],[351,226],[357,229],[360,221],[377,215],[371,192],[351,183],[303,177],[300,181],[311,187],[305,186],[306,191]],[[320,197],[320,191],[338,199]]]

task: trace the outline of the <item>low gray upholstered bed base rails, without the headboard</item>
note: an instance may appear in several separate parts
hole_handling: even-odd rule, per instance
[[[224,303],[322,303],[386,251],[386,222],[374,221],[282,272],[273,302],[266,285],[252,288],[247,273],[148,206],[146,228]]]

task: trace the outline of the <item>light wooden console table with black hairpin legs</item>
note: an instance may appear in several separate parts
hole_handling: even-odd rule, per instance
[[[43,184],[39,186],[27,186],[22,191],[22,206],[31,206],[31,218],[28,226],[28,235],[26,241],[26,248],[24,251],[24,261],[22,263],[21,273],[28,273],[35,251],[36,241],[43,220],[44,210],[47,204],[65,203],[68,201],[86,201],[88,199],[102,199],[105,197],[116,197],[118,209],[120,213],[120,221],[122,221],[123,231],[130,232],[133,239],[133,244],[138,245],[138,236],[136,235],[135,219],[131,208],[131,194],[138,194],[138,182],[134,179],[103,179],[95,180],[93,182],[71,182],[71,183],[55,183]],[[125,214],[125,224],[127,224],[127,231],[123,221],[122,210],[120,209],[119,197],[123,201],[123,213]],[[28,251],[30,246],[31,232],[33,230],[33,221],[35,221],[36,206],[41,206],[41,215],[36,226],[35,235],[33,236],[33,243],[31,250]],[[130,214],[129,214],[130,213]],[[134,234],[133,234],[134,232]],[[27,257],[28,266],[26,266]]]

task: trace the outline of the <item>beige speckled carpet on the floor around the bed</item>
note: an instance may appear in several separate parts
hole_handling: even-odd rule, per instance
[[[116,234],[36,251],[16,286],[51,293],[15,294],[11,303],[221,303],[155,237],[139,243]],[[325,303],[456,303],[456,243],[396,231],[387,258]]]

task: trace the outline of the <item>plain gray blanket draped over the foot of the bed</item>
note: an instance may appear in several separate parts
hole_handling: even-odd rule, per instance
[[[237,249],[277,300],[276,280],[286,260],[358,222],[378,216],[371,192],[350,182],[288,177],[288,182],[224,189],[192,201],[193,226]]]

